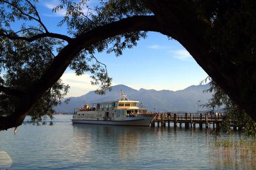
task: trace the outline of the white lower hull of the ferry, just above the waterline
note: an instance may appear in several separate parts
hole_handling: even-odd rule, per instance
[[[102,124],[102,125],[134,125],[149,126],[155,115],[139,115],[138,117],[126,117],[122,120],[81,120],[72,119],[76,124]]]

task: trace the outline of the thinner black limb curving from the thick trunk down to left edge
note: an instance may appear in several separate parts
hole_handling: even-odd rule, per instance
[[[0,131],[22,124],[24,118],[36,101],[60,79],[72,59],[74,59],[81,50],[106,38],[125,32],[160,31],[157,25],[158,23],[154,16],[134,16],[97,27],[69,41],[68,45],[56,55],[51,66],[45,71],[40,80],[36,81],[36,83],[32,84],[31,87],[26,90],[26,96],[20,99],[22,104],[19,104],[19,107],[15,108],[12,115],[0,117]],[[44,36],[47,35],[52,37],[52,34],[44,34]]]

